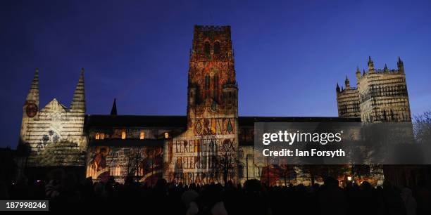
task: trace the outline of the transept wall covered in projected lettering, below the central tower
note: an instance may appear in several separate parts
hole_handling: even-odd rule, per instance
[[[168,141],[165,177],[182,183],[235,180],[238,144],[235,134],[193,136]]]

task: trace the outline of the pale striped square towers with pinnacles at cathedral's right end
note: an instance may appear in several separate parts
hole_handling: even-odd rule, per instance
[[[346,78],[346,89],[337,84],[339,117],[361,117],[362,122],[411,122],[404,63],[398,58],[398,69],[375,70],[371,58],[368,71],[356,69],[357,88]]]

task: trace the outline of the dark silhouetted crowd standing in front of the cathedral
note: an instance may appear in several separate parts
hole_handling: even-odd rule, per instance
[[[334,178],[323,185],[263,185],[249,180],[243,185],[182,185],[159,179],[150,187],[126,178],[124,184],[79,181],[61,169],[49,180],[18,181],[1,185],[3,200],[49,200],[51,211],[134,210],[140,214],[431,214],[430,192],[418,185],[413,190],[386,182],[339,187]]]

